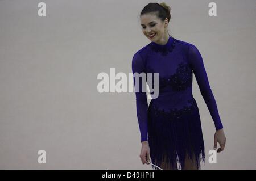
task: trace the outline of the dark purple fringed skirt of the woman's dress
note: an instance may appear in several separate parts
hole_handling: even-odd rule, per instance
[[[151,163],[185,167],[186,159],[194,161],[197,169],[205,161],[204,140],[199,109],[195,99],[192,106],[163,111],[150,104],[148,108],[148,145]],[[157,169],[152,165],[152,169]]]

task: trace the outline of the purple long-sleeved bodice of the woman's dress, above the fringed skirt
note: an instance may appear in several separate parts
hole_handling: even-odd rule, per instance
[[[216,130],[223,128],[216,100],[210,89],[203,58],[195,45],[177,40],[171,36],[166,45],[151,42],[134,54],[132,70],[133,73],[159,73],[159,96],[151,100],[150,106],[157,107],[163,112],[175,110],[172,111],[172,115],[176,115],[176,112],[181,112],[182,115],[182,112],[185,112],[186,108],[191,106],[191,100],[193,100],[193,72]],[[140,90],[142,86],[141,84]],[[138,92],[138,89],[136,91],[137,118],[141,142],[148,141],[148,120],[150,119],[148,116],[150,114],[148,113],[146,92]]]

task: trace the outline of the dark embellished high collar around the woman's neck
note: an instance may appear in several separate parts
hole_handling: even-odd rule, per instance
[[[175,47],[175,43],[176,40],[169,35],[169,39],[165,45],[159,45],[152,41],[150,43],[150,47],[155,52],[162,52],[163,54],[167,54],[168,52],[172,52],[172,49]]]

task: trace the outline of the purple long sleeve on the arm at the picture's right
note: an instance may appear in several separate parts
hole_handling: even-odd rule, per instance
[[[189,47],[188,60],[195,74],[201,95],[203,96],[204,101],[207,104],[208,110],[210,112],[210,115],[212,116],[212,119],[214,121],[215,128],[216,130],[221,129],[223,128],[223,125],[218,114],[216,100],[214,99],[212,90],[209,85],[207,73],[204,68],[203,58],[199,50],[195,47],[195,45],[191,44]]]

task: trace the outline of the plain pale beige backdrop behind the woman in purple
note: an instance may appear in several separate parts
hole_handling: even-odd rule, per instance
[[[139,14],[151,1],[0,1],[0,169],[151,169],[142,165],[135,93],[100,93],[101,72],[131,72],[150,43]],[[161,3],[162,1],[156,1]],[[214,124],[195,77],[206,162],[256,169],[256,1],[164,1],[169,33],[200,50],[227,142],[209,164]],[[46,151],[46,164],[38,163]]]

